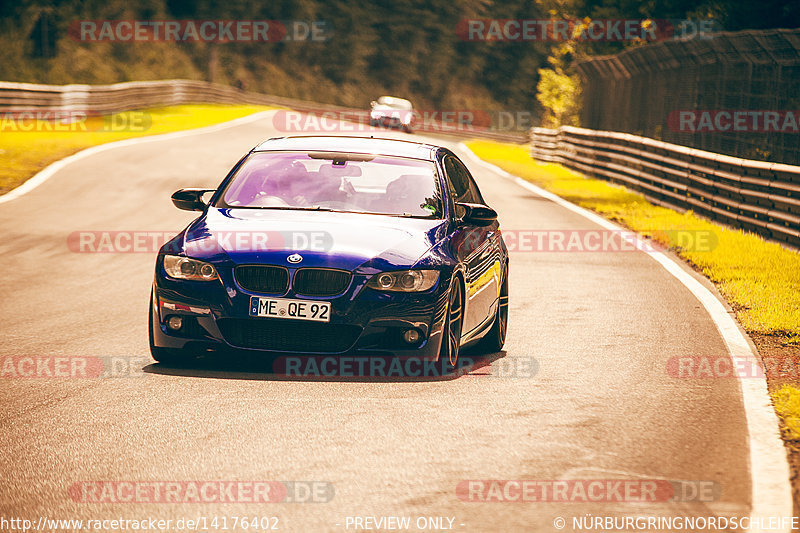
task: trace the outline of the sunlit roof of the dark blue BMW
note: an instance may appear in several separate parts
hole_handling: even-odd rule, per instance
[[[308,135],[267,139],[256,146],[253,151],[347,152],[354,154],[409,157],[412,159],[433,161],[439,149],[439,146],[432,144],[405,141],[402,139],[380,139],[342,135]]]

